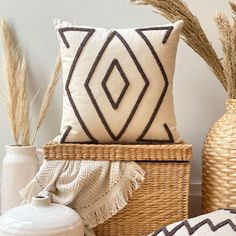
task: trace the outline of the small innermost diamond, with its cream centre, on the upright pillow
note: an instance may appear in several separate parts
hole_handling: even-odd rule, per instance
[[[117,59],[114,59],[109,66],[102,81],[102,87],[113,109],[116,110],[129,87],[129,81]],[[121,90],[117,91],[117,87],[121,87]]]

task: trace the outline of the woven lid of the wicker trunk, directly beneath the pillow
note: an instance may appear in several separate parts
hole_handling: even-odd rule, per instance
[[[49,160],[116,160],[116,161],[189,161],[190,144],[121,145],[121,144],[46,144]]]

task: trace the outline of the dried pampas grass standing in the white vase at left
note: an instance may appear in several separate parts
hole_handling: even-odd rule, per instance
[[[26,59],[16,44],[5,20],[1,22],[0,29],[3,45],[3,78],[6,83],[6,94],[3,95],[3,100],[6,106],[14,144],[17,146],[33,145],[59,79],[61,69],[60,57],[58,56],[57,58],[51,81],[44,94],[39,116],[35,124],[33,139],[30,141],[30,127],[32,124],[29,114],[34,98],[30,100],[29,97]]]

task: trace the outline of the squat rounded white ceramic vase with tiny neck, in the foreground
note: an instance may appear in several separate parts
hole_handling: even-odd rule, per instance
[[[74,210],[38,195],[31,204],[12,208],[0,217],[0,235],[84,236],[84,225]]]

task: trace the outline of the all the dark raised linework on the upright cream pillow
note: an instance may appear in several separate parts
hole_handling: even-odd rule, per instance
[[[168,38],[169,38],[169,36],[170,36],[170,34],[171,34],[172,30],[173,30],[173,27],[172,27],[172,26],[167,26],[167,27],[151,27],[151,28],[136,29],[136,32],[143,38],[144,42],[147,44],[147,46],[148,46],[149,49],[151,50],[151,53],[153,54],[155,60],[157,61],[157,65],[159,66],[159,68],[160,68],[160,70],[161,70],[161,72],[162,72],[163,79],[164,79],[164,82],[165,82],[165,86],[164,86],[163,91],[162,91],[162,93],[161,93],[160,99],[159,99],[159,101],[157,102],[157,106],[156,106],[156,108],[154,109],[153,114],[152,114],[152,116],[151,116],[149,122],[148,122],[147,125],[145,126],[145,129],[143,130],[142,134],[137,138],[137,142],[141,142],[141,143],[143,143],[143,142],[155,142],[155,143],[173,142],[173,136],[172,136],[172,134],[171,134],[171,132],[170,132],[170,130],[169,130],[167,124],[164,124],[164,128],[166,129],[166,132],[167,132],[167,134],[168,134],[168,136],[169,136],[169,140],[148,140],[148,139],[144,139],[144,136],[145,136],[146,133],[148,132],[148,130],[149,130],[149,128],[150,128],[150,126],[151,126],[153,120],[155,119],[155,116],[157,115],[157,113],[158,113],[158,111],[159,111],[159,108],[160,108],[160,106],[161,106],[161,104],[162,104],[162,102],[163,102],[163,99],[164,99],[164,97],[165,97],[165,94],[166,94],[166,91],[167,91],[167,88],[168,88],[168,78],[167,78],[167,75],[166,75],[166,73],[165,73],[165,69],[164,69],[164,67],[163,67],[163,65],[162,65],[162,63],[161,63],[161,61],[160,61],[158,55],[156,54],[156,52],[155,52],[155,50],[154,50],[152,44],[149,42],[148,38],[147,38],[146,35],[143,33],[143,31],[149,31],[149,30],[166,30],[165,37],[163,38],[163,41],[162,41],[162,43],[165,44],[165,43],[167,43],[167,41],[168,41]],[[59,34],[60,34],[60,36],[61,36],[61,38],[62,38],[62,40],[63,40],[63,42],[64,42],[66,48],[70,48],[70,44],[69,44],[69,42],[68,42],[68,40],[67,40],[67,38],[66,38],[66,36],[65,36],[65,32],[70,32],[70,31],[81,31],[81,32],[87,32],[88,34],[85,36],[84,40],[83,40],[83,41],[81,42],[81,44],[79,45],[79,48],[78,48],[78,50],[77,50],[77,52],[76,52],[76,55],[75,55],[75,57],[74,57],[74,59],[73,59],[73,62],[72,62],[72,65],[71,65],[71,68],[70,68],[70,71],[69,71],[69,75],[68,75],[68,78],[67,78],[67,81],[66,81],[65,89],[66,89],[66,92],[67,92],[67,94],[68,94],[68,98],[69,98],[69,100],[70,100],[71,106],[72,106],[72,108],[73,108],[73,110],[74,110],[74,112],[75,112],[75,115],[76,115],[76,117],[77,117],[77,119],[78,119],[78,121],[79,121],[81,127],[83,128],[83,130],[84,130],[84,132],[87,134],[87,136],[90,138],[90,141],[89,141],[89,142],[91,142],[91,143],[97,143],[97,140],[92,136],[92,134],[90,133],[88,127],[86,126],[85,122],[83,121],[82,117],[80,116],[79,110],[78,110],[77,107],[76,107],[76,104],[75,104],[75,102],[74,102],[74,100],[73,100],[73,97],[72,97],[72,95],[71,95],[71,93],[70,93],[70,87],[69,87],[70,82],[71,82],[71,79],[72,79],[72,76],[73,76],[73,72],[74,72],[74,69],[75,69],[75,67],[76,67],[77,61],[79,60],[80,54],[82,53],[84,47],[86,46],[86,44],[87,44],[88,40],[90,39],[90,37],[92,36],[92,34],[95,32],[95,29],[78,28],[78,27],[66,27],[66,28],[60,29],[60,30],[59,30]],[[133,60],[133,62],[134,62],[134,64],[135,64],[137,70],[139,71],[139,73],[140,73],[140,75],[141,75],[141,77],[142,77],[142,79],[144,80],[144,83],[145,83],[145,85],[144,85],[144,87],[143,87],[141,93],[139,94],[139,96],[138,96],[138,98],[137,98],[137,101],[136,101],[134,107],[132,108],[132,110],[131,110],[131,112],[130,112],[130,114],[129,114],[128,119],[126,120],[126,123],[121,127],[121,130],[120,130],[120,132],[119,132],[117,135],[115,135],[115,134],[112,132],[111,128],[109,127],[109,124],[107,123],[107,121],[106,121],[106,119],[105,119],[105,117],[104,117],[104,114],[101,112],[100,107],[99,107],[99,105],[98,105],[98,103],[97,103],[97,101],[96,101],[96,98],[94,97],[94,95],[93,95],[93,93],[92,93],[92,90],[91,90],[91,88],[89,87],[89,83],[90,83],[90,80],[91,80],[91,78],[92,78],[92,76],[93,76],[93,74],[94,74],[94,71],[96,70],[96,67],[97,67],[97,65],[99,64],[100,59],[101,59],[101,57],[103,56],[103,54],[104,54],[106,48],[108,47],[108,45],[110,44],[110,42],[113,40],[114,37],[116,37],[117,39],[119,39],[119,40],[123,43],[123,45],[125,46],[127,52],[128,52],[129,55],[131,56],[131,58],[132,58],[132,60]],[[114,60],[115,60],[115,59],[114,59]],[[106,76],[105,76],[104,79],[103,79],[103,80],[105,80],[105,82],[103,82],[103,85],[102,85],[102,84],[101,84],[101,85],[102,85],[103,90],[105,91],[105,93],[106,93],[108,99],[109,99],[109,96],[110,96],[109,101],[110,101],[110,103],[112,104],[112,107],[113,107],[114,109],[117,109],[117,108],[119,107],[119,105],[120,105],[120,103],[121,103],[121,101],[122,101],[122,99],[123,99],[123,97],[124,97],[124,95],[125,95],[127,89],[128,89],[129,82],[128,82],[128,79],[127,79],[127,77],[125,76],[125,73],[123,72],[123,70],[122,70],[122,68],[121,68],[121,66],[120,66],[120,64],[119,64],[119,62],[118,62],[118,61],[117,61],[117,62],[114,61],[113,63],[114,63],[114,65],[112,65],[112,63],[111,63],[111,65],[110,65],[110,67],[109,67],[109,69],[110,69],[111,71],[110,71],[109,73],[107,72],[107,77],[108,77],[108,78],[106,79]],[[107,81],[108,81],[108,79],[109,79],[109,76],[111,75],[112,70],[114,69],[115,66],[116,66],[116,68],[118,69],[118,71],[119,71],[119,73],[120,73],[122,79],[123,79],[124,81],[127,79],[127,81],[125,82],[125,86],[124,86],[124,88],[122,89],[121,94],[119,95],[118,99],[113,99],[113,98],[112,98],[112,94],[109,92],[109,88],[108,88],[107,85],[106,85],[106,83],[107,83]],[[120,67],[120,70],[119,70],[119,67]],[[127,85],[127,82],[128,82],[128,85]],[[101,50],[99,51],[99,53],[98,53],[98,55],[97,55],[97,57],[96,57],[96,59],[95,59],[93,65],[92,65],[92,67],[91,67],[91,69],[90,69],[90,71],[89,71],[89,74],[88,74],[88,76],[87,76],[87,78],[86,78],[86,81],[85,81],[85,83],[84,83],[84,86],[85,86],[85,89],[87,90],[87,93],[88,93],[88,95],[89,95],[89,97],[90,97],[90,99],[91,99],[91,102],[93,103],[93,106],[95,107],[95,109],[96,109],[96,111],[97,111],[97,113],[98,113],[98,115],[99,115],[99,117],[100,117],[100,119],[101,119],[101,121],[102,121],[102,123],[103,123],[105,129],[107,130],[107,132],[109,133],[109,135],[111,136],[111,138],[112,138],[114,141],[117,141],[117,140],[119,140],[119,139],[121,138],[121,136],[124,134],[124,132],[126,131],[127,127],[129,126],[131,120],[133,119],[133,116],[135,115],[135,112],[136,112],[136,110],[138,109],[139,104],[140,104],[141,100],[143,99],[143,97],[144,97],[144,95],[145,95],[145,93],[146,93],[146,90],[147,90],[147,88],[148,88],[148,86],[149,86],[149,80],[148,80],[148,78],[147,78],[145,72],[143,71],[143,68],[142,68],[141,65],[139,64],[139,61],[138,61],[138,59],[136,58],[136,55],[134,54],[134,52],[133,52],[132,49],[130,48],[129,44],[128,44],[128,43],[126,42],[126,40],[122,37],[121,34],[119,34],[117,31],[113,31],[113,32],[108,36],[108,38],[107,38],[106,41],[104,42],[104,44],[103,44]],[[115,100],[116,100],[116,101],[115,101]],[[71,128],[72,128],[72,127],[68,127],[68,129],[65,131],[61,142],[66,143],[66,137],[67,137],[68,133],[70,132]],[[78,142],[78,143],[80,143],[80,142]]]

